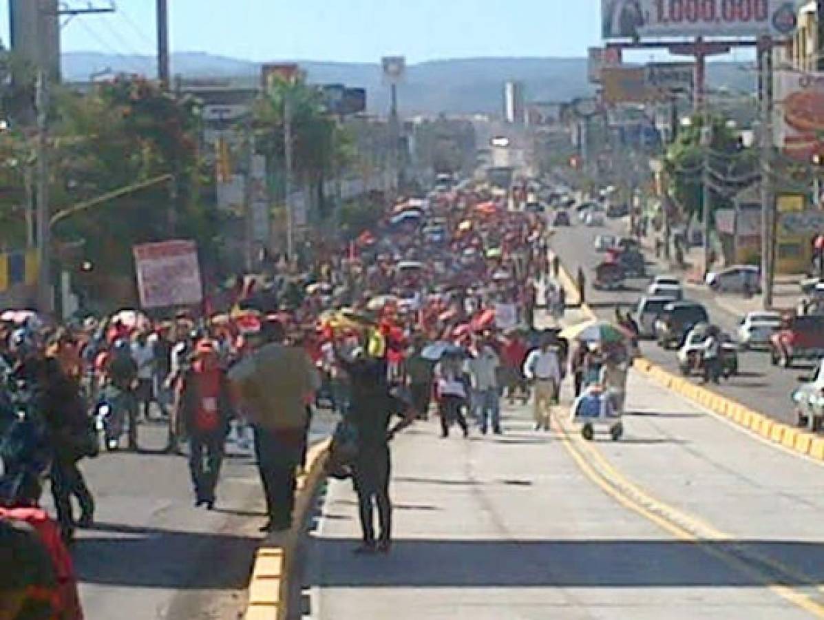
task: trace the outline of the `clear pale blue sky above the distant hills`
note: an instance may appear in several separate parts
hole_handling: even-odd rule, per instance
[[[7,37],[7,0],[0,35]],[[88,0],[73,0],[82,7]],[[92,0],[105,5],[105,0]],[[154,0],[78,17],[63,49],[151,54]],[[600,39],[600,0],[169,0],[172,48],[242,59],[410,62],[468,56],[583,56]]]

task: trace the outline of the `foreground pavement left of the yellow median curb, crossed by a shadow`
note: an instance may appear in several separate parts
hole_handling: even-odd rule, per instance
[[[313,439],[329,428],[320,416]],[[147,453],[82,464],[97,500],[97,524],[78,531],[73,550],[87,618],[236,618],[265,521],[254,459],[230,445],[210,512],[194,508],[186,458],[150,452],[165,442],[162,427],[140,432]]]

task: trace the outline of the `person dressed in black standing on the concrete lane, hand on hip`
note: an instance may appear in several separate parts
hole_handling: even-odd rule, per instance
[[[358,437],[353,470],[363,544],[355,552],[386,553],[391,547],[392,527],[389,442],[396,433],[414,422],[416,414],[404,399],[391,391],[386,379],[385,359],[368,359],[359,355],[354,361],[343,364],[352,386],[349,420]],[[403,419],[390,429],[394,416],[403,416]],[[376,505],[380,524],[377,543],[374,526]]]

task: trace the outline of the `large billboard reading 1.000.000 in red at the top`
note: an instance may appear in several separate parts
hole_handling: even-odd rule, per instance
[[[783,37],[795,30],[795,6],[793,0],[602,0],[602,35]]]

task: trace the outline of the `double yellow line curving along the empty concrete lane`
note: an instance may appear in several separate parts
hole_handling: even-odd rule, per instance
[[[590,481],[595,483],[602,491],[606,492],[620,505],[640,514],[644,519],[648,519],[675,538],[687,542],[695,542],[703,551],[715,557],[734,570],[740,571],[753,580],[765,585],[770,591],[779,595],[782,599],[812,613],[818,618],[824,618],[824,604],[811,599],[808,594],[798,591],[786,585],[775,583],[775,578],[760,571],[754,563],[761,563],[770,567],[772,571],[790,577],[792,580],[801,581],[806,585],[824,591],[821,584],[817,583],[807,575],[803,575],[794,569],[784,566],[782,563],[769,557],[764,557],[759,553],[744,550],[741,546],[732,545],[740,551],[740,555],[715,545],[717,542],[731,542],[733,537],[722,533],[709,524],[686,514],[681,510],[667,505],[642,491],[639,486],[629,481],[616,468],[609,463],[602,453],[591,444],[587,444],[569,429],[560,416],[555,416],[555,421],[561,432],[561,444],[567,450],[569,456],[581,469],[583,474]],[[591,458],[592,461],[588,460]],[[593,467],[592,463],[597,463],[598,467]],[[742,559],[744,556],[745,559]]]

